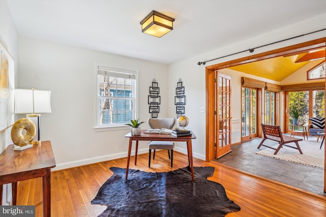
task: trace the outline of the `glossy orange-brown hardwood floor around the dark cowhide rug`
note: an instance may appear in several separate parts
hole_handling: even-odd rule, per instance
[[[138,156],[138,165],[131,158],[130,168],[148,172],[171,170],[166,151],[156,151],[148,168],[148,154]],[[126,167],[126,158],[75,167],[51,173],[51,216],[97,216],[106,206],[92,205],[101,185],[113,174],[110,167]],[[187,157],[174,152],[173,169],[187,166]],[[218,162],[194,159],[194,166],[212,166],[209,180],[223,184],[227,196],[241,207],[227,216],[325,216],[326,198],[290,187],[273,180],[255,177]],[[196,178],[195,178],[196,181]],[[209,191],[209,190],[208,190]],[[36,205],[42,216],[42,180],[18,183],[17,205]]]

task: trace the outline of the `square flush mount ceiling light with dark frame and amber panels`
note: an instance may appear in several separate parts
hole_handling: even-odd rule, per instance
[[[171,17],[152,11],[141,21],[142,32],[160,38],[173,29],[173,21]]]

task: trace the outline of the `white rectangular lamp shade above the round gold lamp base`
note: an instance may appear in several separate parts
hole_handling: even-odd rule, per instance
[[[15,113],[51,113],[51,91],[15,89]]]

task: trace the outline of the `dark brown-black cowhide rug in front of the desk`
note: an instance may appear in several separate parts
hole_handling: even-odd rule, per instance
[[[106,205],[99,216],[225,216],[240,207],[229,200],[222,184],[209,181],[213,167],[189,167],[170,172],[142,172],[111,167],[92,204]]]

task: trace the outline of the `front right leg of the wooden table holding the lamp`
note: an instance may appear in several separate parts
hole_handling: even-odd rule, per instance
[[[43,179],[43,216],[51,216],[51,169],[45,171]]]

